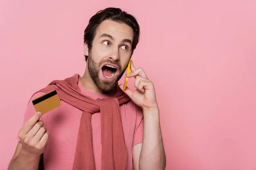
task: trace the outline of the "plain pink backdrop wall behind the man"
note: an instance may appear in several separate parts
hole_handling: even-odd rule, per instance
[[[139,21],[133,60],[155,84],[166,169],[255,170],[254,0],[0,0],[0,169],[30,96],[84,73],[84,28],[109,6]]]

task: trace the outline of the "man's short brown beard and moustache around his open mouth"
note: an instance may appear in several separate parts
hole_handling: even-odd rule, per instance
[[[103,93],[111,92],[116,87],[117,82],[119,81],[119,79],[121,79],[122,75],[125,73],[125,70],[126,70],[126,68],[122,68],[122,66],[119,64],[119,62],[115,62],[110,59],[96,63],[93,60],[92,54],[90,54],[90,53],[88,55],[87,62],[88,62],[87,64],[88,64],[88,71],[89,71],[90,77],[93,79],[93,82],[96,84],[96,86],[101,91],[103,91]],[[119,67],[119,73],[117,73],[116,78],[112,82],[105,81],[105,80],[99,78],[101,69],[102,69],[101,65],[104,62],[110,62],[111,64],[115,64]]]

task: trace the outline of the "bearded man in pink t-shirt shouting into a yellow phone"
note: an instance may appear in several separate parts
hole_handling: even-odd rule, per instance
[[[91,17],[84,31],[84,75],[55,80],[32,96],[9,170],[165,169],[153,83],[132,61],[127,77],[135,78],[136,90],[117,83],[139,37],[136,19],[119,8]],[[52,89],[61,106],[35,113],[32,99]]]

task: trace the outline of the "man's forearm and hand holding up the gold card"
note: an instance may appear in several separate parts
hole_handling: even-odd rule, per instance
[[[8,170],[38,170],[41,154],[44,152],[49,132],[39,121],[41,114],[35,113],[20,129],[14,156]]]

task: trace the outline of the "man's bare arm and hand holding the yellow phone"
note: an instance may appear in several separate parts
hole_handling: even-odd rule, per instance
[[[135,78],[134,86],[136,90],[131,91],[128,87],[123,90],[123,84],[119,87],[136,105],[143,109],[143,144],[134,146],[134,167],[136,170],[163,170],[166,167],[166,156],[154,84],[148,79],[142,68],[136,69],[134,67],[132,61],[131,71],[132,73],[126,76]]]

